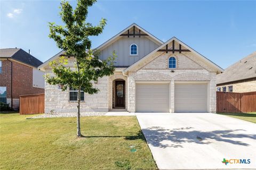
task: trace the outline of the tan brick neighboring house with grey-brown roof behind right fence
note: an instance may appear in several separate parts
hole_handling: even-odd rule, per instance
[[[230,65],[217,75],[217,91],[256,91],[256,52]]]

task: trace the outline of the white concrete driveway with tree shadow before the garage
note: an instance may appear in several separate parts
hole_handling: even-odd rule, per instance
[[[136,115],[159,169],[256,169],[254,123],[211,113]]]

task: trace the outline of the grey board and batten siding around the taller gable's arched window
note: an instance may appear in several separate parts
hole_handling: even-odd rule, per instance
[[[138,55],[130,55],[130,46],[136,44],[138,48]],[[141,37],[122,37],[110,44],[106,48],[101,50],[99,56],[100,60],[106,60],[109,56],[115,53],[117,58],[115,60],[115,66],[130,66],[133,63],[140,60],[145,55],[152,52],[159,45],[151,41],[146,36]]]

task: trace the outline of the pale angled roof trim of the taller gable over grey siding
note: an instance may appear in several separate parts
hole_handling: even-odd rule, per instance
[[[101,44],[99,47],[95,48],[95,49],[101,49],[103,47],[105,47],[106,45],[110,44],[110,43],[114,43],[114,41],[116,41],[123,33],[125,33],[127,30],[130,30],[132,27],[137,27],[138,29],[140,29],[142,32],[145,32],[148,36],[148,38],[150,38],[151,40],[155,41],[157,44],[161,45],[164,42],[159,40],[158,38],[156,38],[155,36],[151,35],[151,33],[149,33],[148,31],[146,31],[145,29],[141,28],[139,25],[133,23],[131,24],[129,27],[125,28],[124,30],[122,30],[121,32],[117,33],[117,35],[115,35],[114,37],[110,38],[109,40],[107,40],[105,43]]]

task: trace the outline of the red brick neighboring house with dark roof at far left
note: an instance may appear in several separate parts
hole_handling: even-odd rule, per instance
[[[0,49],[0,101],[19,108],[19,96],[44,93],[43,62],[20,48]]]

